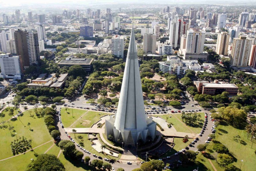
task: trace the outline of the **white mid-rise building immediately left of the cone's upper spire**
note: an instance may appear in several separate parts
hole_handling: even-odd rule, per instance
[[[124,57],[124,38],[115,35],[111,39],[111,53],[112,55],[117,56],[118,58]]]

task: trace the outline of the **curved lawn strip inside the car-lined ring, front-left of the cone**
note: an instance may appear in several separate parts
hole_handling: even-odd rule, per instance
[[[75,138],[75,134],[73,133],[70,133],[69,134],[74,140],[76,143],[79,143],[79,142],[83,142],[84,143],[84,149],[90,151],[92,154],[96,154],[97,156],[101,156],[103,158],[112,158],[112,159],[116,159],[118,160],[120,157],[121,157],[121,154],[119,154],[119,157],[113,157],[113,156],[109,156],[109,155],[104,155],[102,153],[98,153],[96,150],[94,150],[94,148],[91,146],[91,141],[88,140],[88,134],[76,134],[76,138]],[[78,139],[77,136],[83,136],[83,140],[84,141],[81,141],[81,139]]]

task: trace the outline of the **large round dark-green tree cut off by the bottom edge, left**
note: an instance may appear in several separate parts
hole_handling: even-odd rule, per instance
[[[40,154],[27,166],[26,171],[65,171],[64,165],[52,154]]]

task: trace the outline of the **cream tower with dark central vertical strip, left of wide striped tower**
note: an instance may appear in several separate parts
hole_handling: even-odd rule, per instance
[[[228,44],[230,35],[227,32],[218,33],[216,53],[219,55],[228,55]]]

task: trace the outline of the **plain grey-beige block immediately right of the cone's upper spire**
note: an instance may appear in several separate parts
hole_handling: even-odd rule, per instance
[[[156,53],[156,35],[155,34],[143,35],[143,51],[146,54]]]

